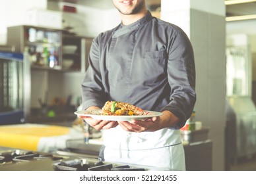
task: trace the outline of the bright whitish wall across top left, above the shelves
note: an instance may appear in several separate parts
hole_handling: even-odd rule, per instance
[[[13,6],[15,5],[15,6]],[[62,12],[63,5],[75,7],[77,13]],[[22,8],[20,8],[22,7]],[[109,30],[120,22],[116,9],[98,9],[71,3],[48,0],[3,0],[0,11],[0,45],[7,43],[7,27],[28,24],[28,11],[51,10],[59,11],[63,15],[63,26],[71,26],[71,30],[78,35],[95,37],[100,32]],[[7,11],[8,10],[8,11]]]

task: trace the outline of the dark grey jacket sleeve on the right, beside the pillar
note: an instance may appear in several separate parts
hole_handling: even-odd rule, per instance
[[[196,102],[195,60],[187,35],[181,30],[170,39],[168,47],[168,82],[171,87],[170,103],[162,110],[170,110],[183,127],[191,116]]]

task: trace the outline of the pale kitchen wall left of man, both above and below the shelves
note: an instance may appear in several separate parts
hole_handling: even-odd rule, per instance
[[[15,7],[13,5],[16,5]],[[63,5],[69,5],[77,9],[76,13],[62,12]],[[59,11],[63,17],[63,28],[71,26],[71,32],[84,37],[96,37],[105,30],[109,30],[119,24],[120,18],[116,9],[98,9],[59,1],[19,1],[3,0],[0,11],[0,45],[7,44],[7,27],[27,24],[26,14],[33,9]],[[22,7],[22,8],[20,8]],[[3,11],[2,11],[3,10]],[[6,11],[8,10],[8,11]],[[17,18],[18,17],[18,18]],[[40,107],[38,98],[44,99],[48,91],[48,102],[53,97],[67,98],[73,95],[71,104],[77,103],[81,96],[80,83],[84,74],[79,72],[48,72],[32,70],[32,96],[31,106]],[[48,86],[50,89],[48,89]]]

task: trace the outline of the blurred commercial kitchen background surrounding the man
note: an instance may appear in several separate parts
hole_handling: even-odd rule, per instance
[[[241,4],[223,0],[146,3],[180,26],[195,52],[197,103],[181,129],[186,169],[223,171],[253,160],[255,19],[229,21],[226,11],[240,8],[229,6]],[[92,39],[120,22],[112,1],[9,0],[1,7],[0,170],[156,170],[99,160],[101,132],[74,114]]]

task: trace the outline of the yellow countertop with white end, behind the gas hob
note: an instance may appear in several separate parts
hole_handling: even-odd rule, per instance
[[[65,149],[69,139],[83,139],[73,127],[42,124],[0,126],[0,147],[50,152]]]

